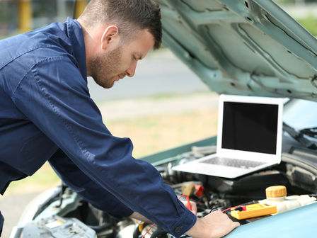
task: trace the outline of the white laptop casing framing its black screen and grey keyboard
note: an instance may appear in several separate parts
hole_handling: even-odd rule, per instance
[[[242,151],[238,149],[226,149],[222,146],[223,137],[223,120],[224,120],[224,103],[260,103],[277,106],[277,134],[276,134],[276,151],[274,154]],[[249,174],[253,171],[264,169],[273,164],[279,164],[281,161],[282,152],[282,108],[284,99],[282,98],[265,98],[255,96],[234,96],[221,95],[219,96],[219,114],[218,114],[218,135],[217,135],[217,153],[202,157],[187,164],[180,164],[174,166],[173,169],[177,171],[185,171],[195,174],[206,174],[210,176],[221,176],[226,178],[236,178],[244,174]],[[265,162],[260,166],[249,169],[241,169],[231,166],[222,166],[217,164],[205,164],[204,160],[214,157],[226,157],[233,159],[248,160],[254,162]]]

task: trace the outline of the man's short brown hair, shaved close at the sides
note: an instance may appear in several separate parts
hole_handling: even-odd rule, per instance
[[[114,23],[123,39],[135,28],[148,29],[154,37],[154,49],[162,41],[161,11],[152,0],[91,0],[79,17],[87,26]]]

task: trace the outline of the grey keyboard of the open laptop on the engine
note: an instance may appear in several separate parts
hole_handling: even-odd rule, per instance
[[[223,158],[223,157],[214,157],[214,158],[206,159],[200,163],[217,164],[217,165],[230,166],[230,167],[236,167],[241,169],[250,169],[250,168],[254,168],[262,164],[265,164],[265,162],[255,162],[255,161],[250,161],[245,159],[230,159],[230,158]]]

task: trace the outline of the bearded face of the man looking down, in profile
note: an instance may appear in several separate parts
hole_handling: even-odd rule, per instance
[[[133,77],[137,61],[142,60],[154,46],[154,37],[148,30],[139,30],[133,40],[107,45],[91,58],[91,73],[100,86],[109,89],[125,76]]]

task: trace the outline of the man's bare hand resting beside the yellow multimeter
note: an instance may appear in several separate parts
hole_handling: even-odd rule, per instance
[[[238,222],[233,222],[228,215],[218,210],[205,217],[197,218],[195,225],[186,234],[195,238],[219,238],[239,225]]]

